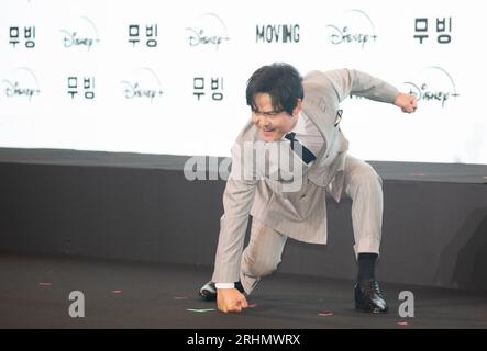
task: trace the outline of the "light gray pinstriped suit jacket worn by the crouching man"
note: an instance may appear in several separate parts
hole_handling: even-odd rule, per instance
[[[220,219],[213,282],[236,282],[248,215],[277,231],[306,242],[326,242],[324,188],[340,201],[348,141],[340,129],[339,103],[350,94],[392,103],[398,90],[389,83],[353,69],[311,71],[303,77],[303,113],[321,133],[324,146],[310,166],[300,161],[289,145],[292,162],[301,167],[301,185],[286,192],[285,182],[269,178],[245,178],[248,163],[242,150],[259,140],[258,128],[248,121],[232,147],[232,172],[223,194],[224,214]],[[277,143],[289,143],[280,140]],[[268,172],[263,171],[268,176]],[[269,248],[272,249],[272,248]]]

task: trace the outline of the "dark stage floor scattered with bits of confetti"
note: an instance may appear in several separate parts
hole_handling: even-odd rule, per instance
[[[353,281],[276,273],[242,314],[197,297],[210,267],[73,257],[0,254],[0,328],[348,329],[487,328],[485,293],[383,284],[390,312],[353,308]],[[414,317],[398,315],[402,290],[414,294]],[[71,318],[68,296],[85,296],[85,317]],[[320,313],[324,316],[319,315]]]

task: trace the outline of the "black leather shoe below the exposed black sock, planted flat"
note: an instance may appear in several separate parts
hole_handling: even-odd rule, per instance
[[[362,280],[355,284],[355,309],[373,314],[387,314],[389,309],[375,279]]]

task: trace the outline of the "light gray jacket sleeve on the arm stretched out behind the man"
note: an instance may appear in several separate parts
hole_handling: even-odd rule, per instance
[[[357,95],[379,102],[394,103],[398,89],[388,82],[356,69],[336,69],[326,72],[340,101]]]

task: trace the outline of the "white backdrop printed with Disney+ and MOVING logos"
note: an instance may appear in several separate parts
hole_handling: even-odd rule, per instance
[[[230,156],[246,80],[286,61],[418,95],[411,115],[347,99],[351,154],[487,163],[484,18],[471,0],[2,0],[0,147]]]

